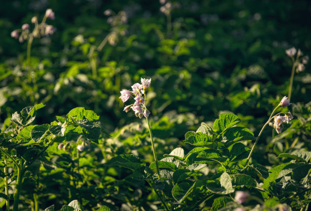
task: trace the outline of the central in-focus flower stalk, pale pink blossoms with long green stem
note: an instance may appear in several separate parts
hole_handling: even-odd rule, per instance
[[[131,105],[126,106],[124,110],[126,112],[129,112],[129,110],[132,109],[135,112],[135,115],[137,117],[142,118],[144,116],[146,118],[148,129],[149,129],[149,135],[151,139],[151,146],[152,146],[155,166],[157,166],[158,178],[161,179],[157,153],[155,152],[153,136],[151,132],[151,126],[150,126],[149,119],[148,119],[150,112],[148,111],[146,107],[146,90],[148,87],[150,87],[151,78],[150,79],[141,78],[140,81],[141,81],[141,84],[135,83],[134,85],[132,85],[132,91],[123,89],[120,92],[121,96],[119,98],[122,100],[123,103],[128,101],[131,97],[134,98],[135,102]]]

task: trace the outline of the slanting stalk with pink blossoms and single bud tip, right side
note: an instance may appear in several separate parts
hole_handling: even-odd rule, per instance
[[[285,96],[283,97],[283,99],[281,100],[281,102],[279,102],[279,104],[274,108],[274,110],[272,111],[269,119],[267,120],[267,122],[265,123],[265,125],[262,127],[261,131],[259,132],[256,141],[251,149],[251,153],[250,155],[248,155],[248,158],[246,160],[246,163],[244,165],[244,167],[246,167],[248,161],[250,161],[251,156],[253,154],[254,148],[263,132],[263,130],[265,129],[265,127],[267,125],[273,127],[275,129],[275,131],[280,134],[282,132],[283,129],[283,123],[289,123],[290,120],[293,119],[293,115],[290,112],[279,112],[276,115],[273,116],[273,114],[275,113],[275,111],[279,108],[279,107],[287,107],[289,106],[291,103],[289,101],[289,99]],[[281,116],[281,114],[285,114],[284,116]]]

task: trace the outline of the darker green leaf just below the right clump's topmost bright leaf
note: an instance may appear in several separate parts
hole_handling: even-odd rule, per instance
[[[224,137],[228,140],[225,145],[230,146],[231,144],[237,141],[243,140],[255,140],[254,134],[252,131],[244,127],[233,127],[225,131]]]

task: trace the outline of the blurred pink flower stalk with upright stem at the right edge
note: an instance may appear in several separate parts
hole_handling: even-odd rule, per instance
[[[296,48],[294,48],[294,47],[287,49],[285,52],[289,57],[291,57],[292,63],[293,63],[292,73],[291,73],[291,78],[290,78],[289,91],[288,91],[288,100],[291,100],[295,71],[296,71],[296,73],[304,71],[304,69],[305,69],[304,66],[308,63],[309,57],[303,56],[302,51],[300,49],[298,49],[298,51],[297,51]],[[295,55],[296,55],[296,57],[295,57]]]

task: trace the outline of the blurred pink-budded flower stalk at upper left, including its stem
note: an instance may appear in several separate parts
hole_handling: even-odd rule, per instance
[[[32,72],[30,69],[30,51],[32,48],[32,43],[34,38],[40,38],[42,36],[48,36],[52,35],[55,32],[55,27],[52,25],[47,25],[46,20],[47,19],[54,20],[55,15],[52,9],[47,9],[45,12],[45,15],[41,21],[41,23],[38,23],[38,18],[34,16],[32,18],[32,23],[35,24],[33,32],[30,32],[30,26],[28,23],[25,23],[22,25],[21,29],[15,29],[11,33],[11,37],[18,39],[20,43],[24,42],[24,40],[27,40],[27,72],[28,72],[28,82],[32,81]],[[19,34],[20,33],[20,34]]]

